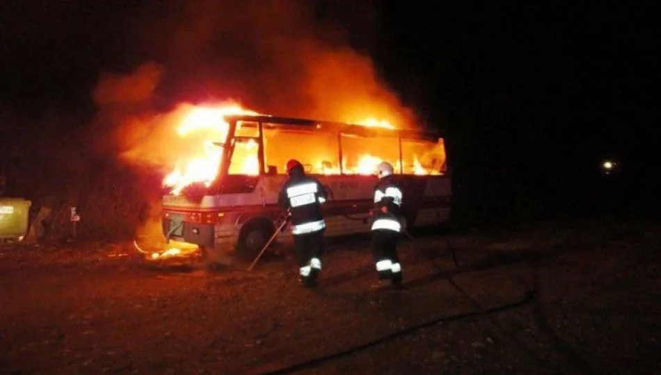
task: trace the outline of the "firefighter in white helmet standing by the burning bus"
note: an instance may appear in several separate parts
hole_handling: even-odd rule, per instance
[[[401,231],[401,189],[392,180],[393,167],[381,163],[376,167],[379,183],[374,186],[372,210],[372,255],[381,281],[401,285],[401,265],[397,257],[397,240]]]

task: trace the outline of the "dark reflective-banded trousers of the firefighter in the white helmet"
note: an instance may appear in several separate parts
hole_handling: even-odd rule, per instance
[[[372,255],[376,263],[376,272],[381,279],[401,281],[401,265],[397,257],[399,232],[390,229],[372,231]]]

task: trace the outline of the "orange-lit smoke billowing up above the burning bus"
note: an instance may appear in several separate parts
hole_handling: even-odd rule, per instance
[[[270,115],[415,127],[413,110],[379,77],[372,59],[351,49],[351,31],[321,22],[317,3],[152,4],[157,14],[136,29],[134,42],[145,62],[128,74],[102,74],[93,92],[98,148],[170,172],[180,156],[200,147],[198,140],[182,142],[177,125],[196,104],[227,101]],[[344,14],[356,8],[352,3],[340,3],[348,7]]]

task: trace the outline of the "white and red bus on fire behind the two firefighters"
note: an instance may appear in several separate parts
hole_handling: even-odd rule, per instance
[[[449,217],[445,144],[435,133],[252,113],[225,115],[223,122],[220,142],[206,145],[211,168],[196,168],[193,160],[188,172],[177,170],[164,181],[167,242],[197,245],[221,263],[255,256],[282,223],[278,192],[290,158],[328,191],[327,237],[369,233],[374,167],[381,161],[395,166],[404,191],[404,228],[443,224]],[[290,240],[281,231],[274,244]]]

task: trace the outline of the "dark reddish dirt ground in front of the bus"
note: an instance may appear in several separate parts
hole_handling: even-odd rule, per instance
[[[209,271],[130,244],[0,247],[1,374],[660,374],[660,225],[421,235],[404,288],[365,240]],[[456,254],[456,267],[452,251]]]

